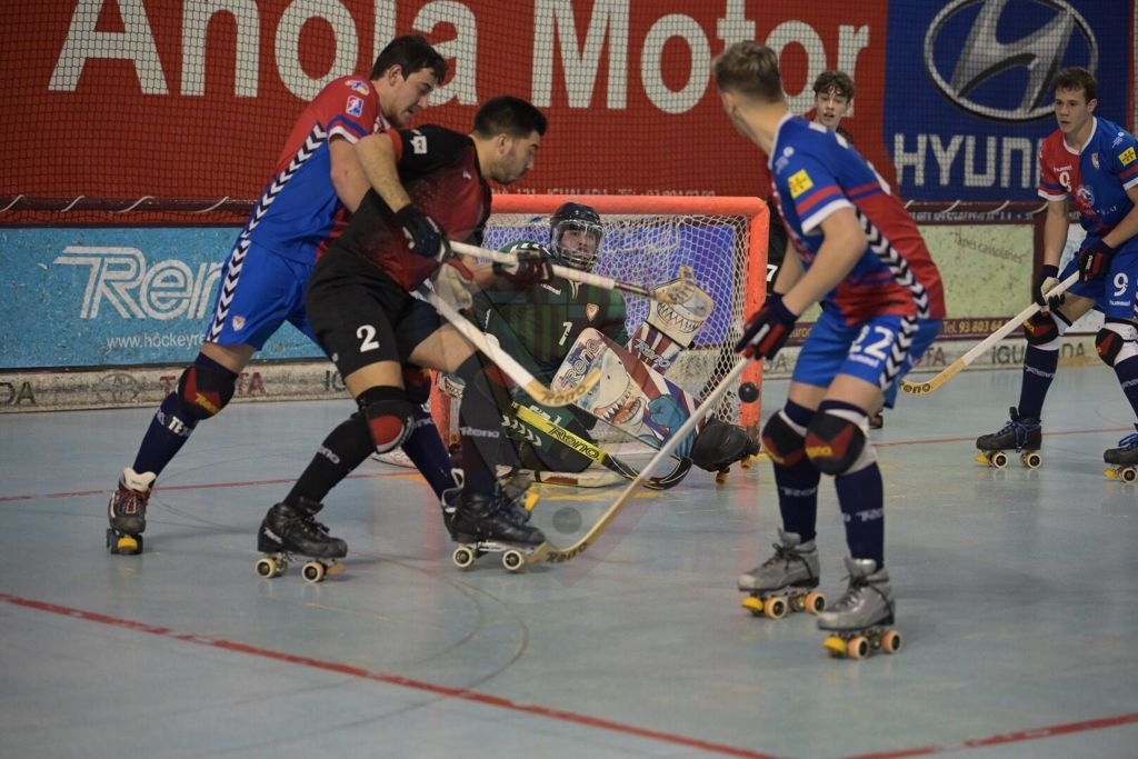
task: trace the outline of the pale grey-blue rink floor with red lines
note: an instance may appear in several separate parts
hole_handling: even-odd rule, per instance
[[[105,508],[149,410],[0,416],[2,757],[1138,756],[1138,488],[1103,476],[1131,419],[1063,368],[1044,467],[990,470],[1017,372],[902,397],[874,432],[905,647],[834,660],[807,614],[754,618],[769,463],[693,472],[564,566],[452,566],[418,477],[369,461],[323,520],[345,574],[265,580],[255,531],[348,402],[237,404],[151,501],[146,552]],[[768,382],[765,414],[785,383]],[[546,488],[535,519],[618,489]],[[823,589],[843,587],[833,488]]]

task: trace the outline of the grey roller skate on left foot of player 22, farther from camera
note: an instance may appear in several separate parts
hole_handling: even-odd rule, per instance
[[[773,556],[745,575],[739,576],[739,589],[750,593],[743,608],[759,617],[781,619],[789,610],[822,611],[826,599],[818,587],[818,548],[814,541],[802,543],[797,533],[778,530],[782,543],[775,543]]]

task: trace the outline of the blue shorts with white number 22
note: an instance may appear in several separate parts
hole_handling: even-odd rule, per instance
[[[897,387],[940,335],[942,322],[917,322],[908,350],[897,350],[901,343],[902,316],[882,315],[849,325],[832,312],[823,311],[794,364],[793,380],[802,385],[828,387],[839,374],[857,377],[876,385],[892,409]],[[894,350],[897,350],[894,353]]]

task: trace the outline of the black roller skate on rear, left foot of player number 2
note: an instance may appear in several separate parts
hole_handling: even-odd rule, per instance
[[[257,575],[265,579],[280,577],[290,563],[305,556],[310,561],[300,568],[300,576],[308,583],[344,571],[344,564],[336,560],[347,555],[348,545],[329,536],[328,528],[315,520],[322,508],[300,498],[298,505],[278,503],[269,510],[257,531],[257,551],[266,554],[257,561]]]

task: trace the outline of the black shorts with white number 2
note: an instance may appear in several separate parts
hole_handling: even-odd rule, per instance
[[[340,250],[316,264],[307,310],[316,339],[341,377],[381,361],[407,363],[443,324],[430,304],[376,265]]]

